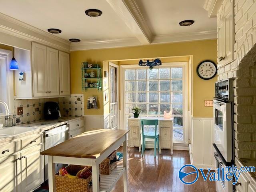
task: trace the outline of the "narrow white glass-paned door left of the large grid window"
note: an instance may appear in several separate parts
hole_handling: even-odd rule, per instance
[[[118,66],[110,63],[110,129],[119,129],[119,105],[118,105]]]

